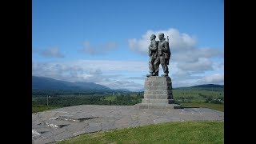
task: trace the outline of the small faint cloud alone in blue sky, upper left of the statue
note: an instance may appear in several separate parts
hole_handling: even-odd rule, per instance
[[[90,55],[106,54],[118,47],[116,42],[107,42],[99,46],[91,46],[89,41],[83,43],[82,52]]]

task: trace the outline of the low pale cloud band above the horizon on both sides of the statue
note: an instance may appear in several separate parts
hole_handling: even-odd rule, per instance
[[[200,61],[201,62],[201,61]],[[214,62],[214,66],[222,65]],[[198,74],[198,71],[180,70],[178,63],[169,66],[173,87],[199,84],[222,84],[223,74]],[[162,68],[160,68],[162,70]],[[214,73],[214,71],[212,71]],[[32,75],[70,82],[95,82],[112,89],[141,90],[148,73],[147,62],[78,60],[74,62],[33,62]]]

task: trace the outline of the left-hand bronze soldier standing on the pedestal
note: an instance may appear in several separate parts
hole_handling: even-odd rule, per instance
[[[149,68],[150,74],[147,74],[147,77],[158,76],[159,70],[159,58],[158,58],[158,41],[155,40],[156,36],[152,34],[150,36],[150,46],[149,46]]]

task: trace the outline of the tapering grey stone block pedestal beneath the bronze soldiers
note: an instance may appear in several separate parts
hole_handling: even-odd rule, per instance
[[[144,98],[138,104],[141,109],[179,109],[174,104],[170,77],[151,76],[145,79]]]

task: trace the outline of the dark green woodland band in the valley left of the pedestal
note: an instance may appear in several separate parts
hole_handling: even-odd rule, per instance
[[[51,90],[52,92],[53,90]],[[43,92],[43,91],[42,91]],[[43,92],[48,93],[48,91]],[[131,106],[142,102],[142,93],[129,94],[70,94],[54,95],[48,98],[49,106],[77,106],[77,105],[121,105]],[[46,106],[47,97],[46,95],[32,95],[33,105],[44,105]]]

